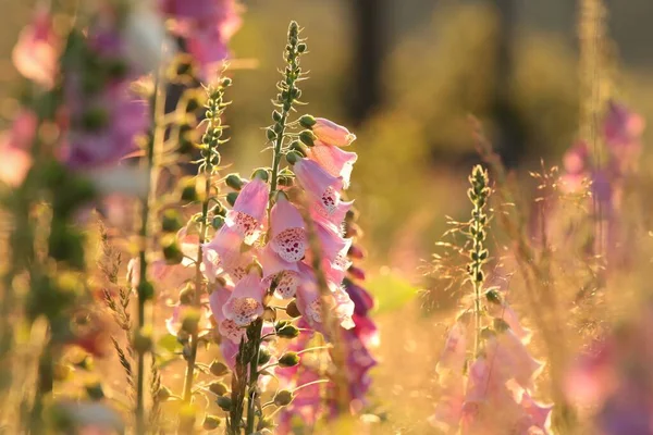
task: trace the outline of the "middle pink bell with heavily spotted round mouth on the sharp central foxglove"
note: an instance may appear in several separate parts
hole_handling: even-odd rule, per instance
[[[304,258],[307,248],[306,229],[299,211],[285,196],[280,195],[270,213],[272,239],[270,246],[284,261],[296,262]]]

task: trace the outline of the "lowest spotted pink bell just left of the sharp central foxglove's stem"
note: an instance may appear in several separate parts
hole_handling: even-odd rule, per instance
[[[247,326],[256,319],[263,315],[263,296],[266,288],[257,271],[249,274],[236,284],[227,301],[222,307],[224,316],[235,322],[238,326]]]

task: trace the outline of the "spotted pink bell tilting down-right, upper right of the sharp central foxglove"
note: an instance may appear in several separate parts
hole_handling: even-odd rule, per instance
[[[340,191],[343,189],[343,178],[335,177],[324,171],[318,163],[300,159],[294,165],[295,175],[311,200],[326,215],[333,215],[341,204]]]

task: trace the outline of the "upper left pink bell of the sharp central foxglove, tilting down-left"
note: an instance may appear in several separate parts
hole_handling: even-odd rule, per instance
[[[247,245],[261,234],[269,195],[268,184],[254,178],[243,187],[233,209],[226,213],[225,225],[234,227]]]

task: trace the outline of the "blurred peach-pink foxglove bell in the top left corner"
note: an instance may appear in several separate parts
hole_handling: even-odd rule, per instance
[[[12,60],[23,76],[50,89],[59,70],[60,49],[61,40],[54,33],[52,16],[39,8],[32,24],[21,32]]]

